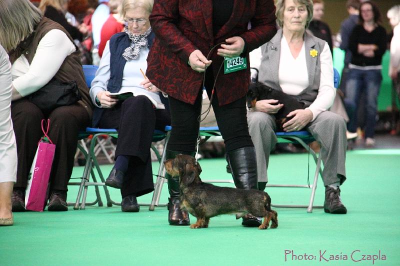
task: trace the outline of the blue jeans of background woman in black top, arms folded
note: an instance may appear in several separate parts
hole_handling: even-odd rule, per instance
[[[373,137],[376,124],[377,97],[382,81],[380,69],[359,70],[350,68],[346,82],[346,106],[349,122],[347,128],[351,132],[357,129],[357,108],[361,93],[365,94],[365,137]]]

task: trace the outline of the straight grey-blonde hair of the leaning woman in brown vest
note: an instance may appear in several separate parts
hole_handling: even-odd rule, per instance
[[[33,32],[42,17],[29,0],[0,0],[0,44],[8,52]]]

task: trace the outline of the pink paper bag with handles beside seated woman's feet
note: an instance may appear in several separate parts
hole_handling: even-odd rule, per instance
[[[43,121],[45,120],[43,119],[41,121],[42,130]],[[47,136],[49,124],[50,122],[47,119],[47,130],[45,132],[43,130],[44,136],[39,140],[36,154],[33,158],[32,166],[30,167],[25,191],[25,208],[27,210],[43,211],[44,204],[47,202],[46,191],[55,150],[55,145]],[[48,143],[44,137],[46,137],[50,143]]]

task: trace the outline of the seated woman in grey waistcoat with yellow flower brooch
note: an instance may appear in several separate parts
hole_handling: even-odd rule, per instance
[[[329,46],[305,31],[312,17],[312,0],[278,0],[276,16],[281,29],[261,46],[258,81],[305,104],[305,109],[287,115],[291,119],[283,124],[283,130],[307,130],[321,144],[324,210],[346,213],[339,196],[339,185],[345,180],[346,125],[341,116],[327,111],[335,96]],[[281,107],[274,99],[259,100],[247,112],[258,178],[264,185],[269,152],[277,141],[273,114]]]

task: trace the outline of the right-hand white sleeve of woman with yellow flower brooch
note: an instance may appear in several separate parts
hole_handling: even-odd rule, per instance
[[[312,121],[316,116],[333,104],[336,88],[333,86],[333,62],[332,54],[330,53],[329,45],[325,42],[325,46],[320,54],[321,73],[318,94],[316,99],[306,109],[312,112]]]

